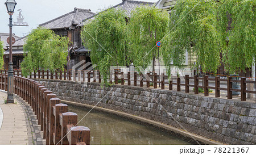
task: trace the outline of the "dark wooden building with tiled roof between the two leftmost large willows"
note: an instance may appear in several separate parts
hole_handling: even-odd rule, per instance
[[[69,58],[67,62],[68,69],[72,69],[81,60],[90,61],[88,51],[83,51],[82,40],[80,36],[82,20],[95,15],[90,9],[76,8],[55,19],[49,20],[46,23],[39,24],[40,27],[48,28],[60,36],[67,36],[71,41],[69,48]],[[82,52],[81,52],[82,51]]]

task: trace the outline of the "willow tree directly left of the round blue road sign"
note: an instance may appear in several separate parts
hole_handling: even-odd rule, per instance
[[[129,21],[130,60],[135,66],[146,68],[158,57],[156,41],[160,41],[168,30],[168,13],[151,6],[137,7],[131,12]]]

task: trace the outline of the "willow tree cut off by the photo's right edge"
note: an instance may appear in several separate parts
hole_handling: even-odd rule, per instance
[[[251,68],[256,56],[256,1],[221,0],[218,23],[226,69],[235,73]]]

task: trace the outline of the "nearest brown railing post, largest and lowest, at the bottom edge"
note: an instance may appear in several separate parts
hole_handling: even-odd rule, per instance
[[[90,144],[90,129],[88,127],[74,127],[68,125],[67,127],[67,138],[70,145],[76,145],[77,143],[84,142],[86,145]]]

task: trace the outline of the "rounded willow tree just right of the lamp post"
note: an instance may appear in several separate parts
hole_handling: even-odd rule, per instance
[[[38,69],[63,70],[67,64],[68,44],[67,37],[55,35],[51,30],[42,27],[32,30],[24,44],[23,76]]]

